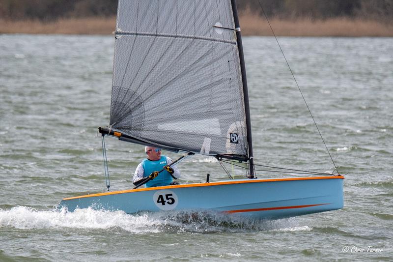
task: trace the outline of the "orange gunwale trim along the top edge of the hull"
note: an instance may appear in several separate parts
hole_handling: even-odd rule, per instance
[[[275,182],[275,181],[315,180],[315,179],[344,179],[344,176],[331,175],[331,176],[309,176],[309,177],[290,177],[290,178],[271,178],[271,179],[231,180],[231,181],[225,181],[225,182],[209,182],[209,183],[202,182],[202,183],[192,183],[192,184],[183,184],[183,185],[156,186],[156,187],[148,187],[148,188],[119,190],[119,191],[113,191],[113,192],[84,195],[84,196],[79,196],[79,197],[63,198],[63,200],[100,197],[100,196],[124,194],[124,193],[131,193],[131,192],[133,193],[133,192],[140,192],[140,191],[162,190],[162,189],[171,189],[171,188],[217,186],[217,185],[245,184],[245,183],[262,183],[262,182]]]

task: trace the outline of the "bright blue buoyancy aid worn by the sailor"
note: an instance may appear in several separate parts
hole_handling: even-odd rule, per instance
[[[161,156],[160,160],[151,161],[149,159],[144,159],[142,161],[142,167],[144,170],[143,177],[149,176],[154,171],[160,171],[167,165],[167,157]],[[152,186],[167,186],[173,181],[172,176],[169,174],[168,171],[163,171],[157,175],[156,178],[150,180],[145,184],[146,187]]]

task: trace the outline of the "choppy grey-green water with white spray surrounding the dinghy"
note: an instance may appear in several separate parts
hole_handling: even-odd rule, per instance
[[[279,40],[340,173],[348,173],[345,206],[252,221],[56,211],[63,197],[105,189],[97,127],[109,122],[113,37],[0,35],[0,260],[391,261],[393,39]],[[332,171],[275,39],[243,41],[256,162]],[[143,148],[106,141],[111,190],[129,188]],[[226,178],[204,157],[180,168],[183,183],[206,173]]]

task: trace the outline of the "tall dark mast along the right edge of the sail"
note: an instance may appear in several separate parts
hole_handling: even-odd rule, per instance
[[[250,160],[249,160],[249,163],[250,163],[249,178],[254,178],[253,139],[251,136],[249,91],[247,88],[246,66],[244,63],[242,36],[240,34],[240,24],[239,24],[239,17],[237,15],[236,1],[231,0],[230,2],[232,5],[233,18],[234,18],[234,22],[235,22],[236,39],[237,39],[237,46],[238,46],[239,58],[240,58],[240,69],[242,71],[244,107],[245,107],[245,113],[246,113],[247,143],[249,144],[249,158],[250,158]]]

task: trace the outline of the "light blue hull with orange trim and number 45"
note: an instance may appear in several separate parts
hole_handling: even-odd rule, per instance
[[[343,177],[240,179],[115,191],[63,199],[59,207],[123,210],[214,210],[278,219],[343,207]]]

